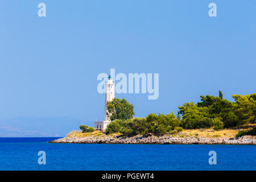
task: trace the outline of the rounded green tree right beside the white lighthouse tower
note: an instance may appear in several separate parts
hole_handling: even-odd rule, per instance
[[[112,101],[108,101],[107,103],[107,116],[111,121],[115,119],[131,119],[135,114],[133,109],[133,104],[129,104],[125,98],[122,100],[119,100],[119,98],[113,98]]]

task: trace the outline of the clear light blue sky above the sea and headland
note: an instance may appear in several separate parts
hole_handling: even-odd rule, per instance
[[[38,16],[40,2],[46,17]],[[217,17],[208,16],[211,2]],[[92,125],[104,119],[97,76],[110,68],[159,73],[157,100],[116,95],[134,104],[137,117],[176,114],[184,102],[218,90],[230,101],[255,93],[255,8],[254,0],[2,0],[0,119],[69,117]]]

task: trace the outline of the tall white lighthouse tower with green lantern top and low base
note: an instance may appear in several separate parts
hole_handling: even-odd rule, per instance
[[[94,122],[94,127],[96,130],[102,130],[102,129],[106,129],[106,127],[108,126],[108,124],[110,123],[110,118],[107,116],[107,102],[108,101],[112,101],[113,98],[115,97],[115,84],[112,81],[112,78],[108,77],[108,81],[105,84],[105,117],[104,117],[104,121],[96,121]]]

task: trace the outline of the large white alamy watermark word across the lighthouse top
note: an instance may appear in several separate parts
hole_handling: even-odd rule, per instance
[[[115,93],[148,93],[148,100],[156,100],[159,97],[159,73],[154,73],[154,84],[152,73],[125,73],[115,75],[115,69],[110,69],[110,77],[115,83]],[[101,82],[97,86],[98,93],[105,93],[105,83],[108,74],[100,73],[97,80]],[[154,87],[153,87],[154,85]]]

